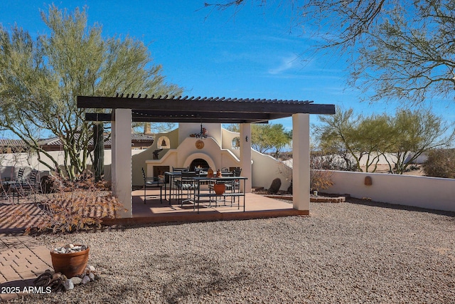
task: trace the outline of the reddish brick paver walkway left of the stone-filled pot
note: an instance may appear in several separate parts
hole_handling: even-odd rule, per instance
[[[15,206],[36,208],[33,204],[14,205],[0,202],[0,303],[16,298],[17,291],[23,293],[24,288],[27,293],[28,286],[33,286],[35,278],[46,269],[53,271],[49,249],[39,245],[31,236],[23,234],[27,224],[33,222],[33,216],[14,224],[1,221]],[[32,211],[32,214],[36,213]]]

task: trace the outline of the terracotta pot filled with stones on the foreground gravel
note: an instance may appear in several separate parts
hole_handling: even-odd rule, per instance
[[[56,253],[50,251],[55,273],[62,273],[67,278],[79,276],[85,271],[90,248],[73,253]]]

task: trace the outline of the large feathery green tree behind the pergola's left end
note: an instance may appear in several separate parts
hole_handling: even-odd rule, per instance
[[[24,140],[36,152],[58,162],[38,145],[53,134],[60,138],[65,172],[70,179],[83,172],[89,157],[92,123],[77,109],[77,95],[115,93],[178,94],[149,49],[130,37],[102,36],[101,26],[87,26],[85,9],[68,14],[49,6],[41,17],[50,34],[32,38],[18,26],[0,28],[0,128]]]

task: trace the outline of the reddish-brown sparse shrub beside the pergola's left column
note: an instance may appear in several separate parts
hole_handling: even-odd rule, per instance
[[[90,173],[82,174],[74,181],[58,176],[51,177],[51,180],[53,193],[41,196],[38,202],[41,217],[36,226],[26,229],[26,233],[52,231],[58,234],[99,228],[103,218],[114,218],[116,212],[123,208],[112,196],[109,183],[95,183]],[[10,222],[23,216],[30,214],[18,209]]]

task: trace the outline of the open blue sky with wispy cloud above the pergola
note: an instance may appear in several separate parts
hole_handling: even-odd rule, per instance
[[[55,1],[72,11],[88,6],[89,25],[105,36],[129,35],[149,45],[155,64],[185,95],[230,98],[314,100],[355,112],[393,114],[399,103],[360,103],[360,92],[346,88],[346,61],[331,56],[306,58],[314,44],[309,33],[291,28],[289,8],[247,4],[240,12],[203,8],[204,0]],[[14,0],[0,4],[0,23],[14,23],[32,34],[48,33],[40,9],[51,1]],[[134,93],[134,92],[133,92]],[[453,103],[452,103],[453,104]],[[455,105],[432,103],[434,112],[455,121]],[[274,120],[291,128],[291,120]],[[312,116],[311,122],[317,123]]]

